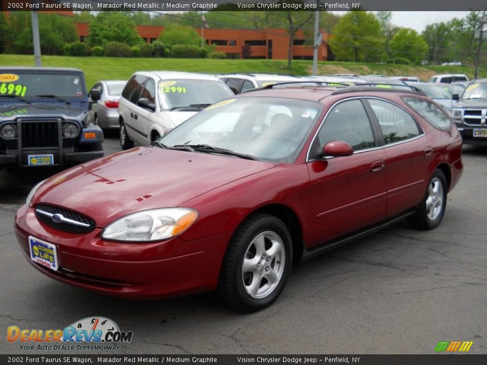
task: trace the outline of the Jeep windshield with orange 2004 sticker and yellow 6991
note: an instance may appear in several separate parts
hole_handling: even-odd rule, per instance
[[[56,95],[79,98],[84,95],[84,85],[81,74],[3,71],[3,74],[0,74],[0,95]]]

